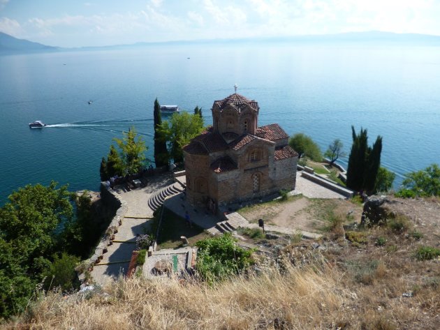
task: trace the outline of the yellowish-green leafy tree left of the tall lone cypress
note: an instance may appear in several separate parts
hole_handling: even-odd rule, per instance
[[[128,132],[123,132],[123,135],[122,139],[114,139],[121,151],[123,172],[124,174],[138,173],[145,165],[145,151],[147,151],[145,141],[142,137],[138,137],[134,126]]]

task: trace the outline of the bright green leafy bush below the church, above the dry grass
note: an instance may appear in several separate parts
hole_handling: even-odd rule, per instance
[[[231,234],[223,234],[196,243],[197,271],[203,280],[212,284],[240,273],[254,263],[251,256],[254,250],[245,250],[236,241]]]

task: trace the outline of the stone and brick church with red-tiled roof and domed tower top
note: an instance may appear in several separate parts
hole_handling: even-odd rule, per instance
[[[236,91],[212,105],[212,127],[184,150],[186,197],[218,207],[295,188],[298,153],[277,124],[258,127],[260,108]]]

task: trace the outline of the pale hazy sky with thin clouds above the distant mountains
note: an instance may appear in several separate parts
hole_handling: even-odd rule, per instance
[[[61,47],[372,30],[440,36],[440,0],[0,0],[0,31]]]

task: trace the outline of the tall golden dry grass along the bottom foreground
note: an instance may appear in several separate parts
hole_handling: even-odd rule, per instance
[[[269,270],[214,287],[119,280],[105,294],[49,294],[20,323],[31,329],[314,329],[335,324],[346,290],[330,269]],[[10,324],[12,326],[12,324]]]

